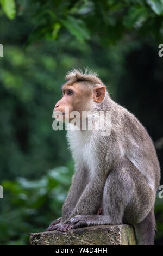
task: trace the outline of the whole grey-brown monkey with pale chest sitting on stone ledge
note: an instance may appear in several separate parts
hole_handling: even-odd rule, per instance
[[[109,111],[111,129],[108,136],[102,136],[95,126],[82,130],[81,124],[80,129],[67,131],[75,172],[62,216],[46,231],[126,223],[133,225],[137,245],[154,245],[160,165],[147,130],[134,114],[111,99],[91,70],[68,72],[62,94],[54,113],[60,112],[64,121],[65,107],[80,115]]]

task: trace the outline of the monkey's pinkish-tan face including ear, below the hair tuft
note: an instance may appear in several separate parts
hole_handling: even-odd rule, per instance
[[[81,82],[66,84],[62,87],[62,98],[55,104],[54,116],[61,121],[71,121],[76,111],[78,117],[82,118],[82,112],[93,110],[93,101],[101,102],[104,96],[105,86],[88,88]]]

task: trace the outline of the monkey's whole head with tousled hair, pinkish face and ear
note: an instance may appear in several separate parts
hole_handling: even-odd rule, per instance
[[[62,120],[65,120],[68,115],[71,121],[73,111],[78,111],[82,117],[83,111],[94,110],[93,106],[104,100],[106,87],[96,74],[73,70],[68,73],[66,80],[62,86],[62,98],[55,104],[55,118],[62,115]]]

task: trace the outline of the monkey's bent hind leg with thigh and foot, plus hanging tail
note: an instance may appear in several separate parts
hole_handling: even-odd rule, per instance
[[[153,194],[139,170],[128,159],[124,159],[106,179],[103,215],[77,215],[67,224],[71,225],[69,228],[78,228],[129,223],[135,227],[137,244],[152,244],[155,227]]]

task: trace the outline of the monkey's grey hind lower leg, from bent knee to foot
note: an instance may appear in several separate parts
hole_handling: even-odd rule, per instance
[[[73,228],[89,225],[121,224],[124,208],[133,193],[133,182],[130,177],[124,175],[124,169],[127,169],[126,161],[118,164],[106,179],[103,191],[102,215],[76,215],[67,221],[67,224],[73,225]],[[122,175],[120,175],[120,172],[122,172]]]

